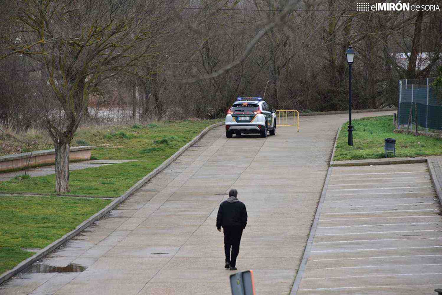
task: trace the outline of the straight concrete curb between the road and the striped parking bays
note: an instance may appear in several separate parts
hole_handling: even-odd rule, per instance
[[[312,250],[313,238],[315,238],[316,229],[319,223],[319,217],[321,215],[322,205],[325,200],[325,193],[327,192],[328,182],[330,181],[331,176],[331,167],[328,167],[327,176],[325,177],[324,187],[322,188],[321,197],[319,199],[318,207],[316,208],[315,218],[313,219],[312,227],[310,228],[309,239],[307,240],[307,244],[305,245],[304,255],[302,256],[301,264],[299,265],[298,271],[296,273],[295,281],[293,282],[292,290],[290,291],[290,295],[296,295],[299,289],[299,285],[301,284],[302,276],[305,272],[305,267],[307,265],[307,261],[309,260],[310,251]]]

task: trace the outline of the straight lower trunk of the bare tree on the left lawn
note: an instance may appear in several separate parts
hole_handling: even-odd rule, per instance
[[[69,193],[69,143],[55,143],[55,191]]]

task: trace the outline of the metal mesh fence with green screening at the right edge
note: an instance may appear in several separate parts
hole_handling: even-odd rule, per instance
[[[427,130],[442,130],[442,104],[431,87],[433,81],[434,78],[399,80],[399,129],[417,122]]]

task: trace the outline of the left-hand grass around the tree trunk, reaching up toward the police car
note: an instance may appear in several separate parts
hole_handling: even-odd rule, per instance
[[[217,121],[220,120],[151,123],[140,128],[131,125],[112,130],[81,129],[76,137],[97,146],[92,151],[94,159],[138,161],[71,171],[70,194],[119,197]],[[54,193],[54,189],[54,174],[0,182],[0,192]]]

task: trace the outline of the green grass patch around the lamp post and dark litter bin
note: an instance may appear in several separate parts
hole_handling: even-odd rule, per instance
[[[385,138],[396,139],[396,157],[442,155],[442,139],[394,133],[393,116],[366,117],[352,124],[353,147],[347,144],[347,122],[339,132],[334,161],[385,158]]]

